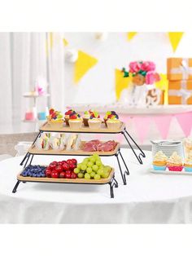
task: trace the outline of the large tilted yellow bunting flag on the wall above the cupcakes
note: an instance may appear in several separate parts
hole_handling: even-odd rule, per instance
[[[91,55],[88,55],[83,51],[78,51],[78,59],[75,63],[74,82],[79,82],[85,73],[97,64],[97,62],[98,60]]]

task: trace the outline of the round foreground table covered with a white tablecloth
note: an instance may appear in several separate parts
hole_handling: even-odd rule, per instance
[[[192,175],[152,174],[151,152],[141,166],[131,150],[121,151],[130,171],[126,186],[116,158],[103,157],[116,168],[115,198],[107,185],[21,183],[13,194],[23,157],[0,161],[0,223],[192,223]],[[33,163],[50,161],[53,157],[35,156]]]

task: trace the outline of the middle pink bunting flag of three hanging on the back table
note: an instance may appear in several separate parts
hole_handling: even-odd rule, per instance
[[[153,117],[153,120],[155,121],[155,125],[157,126],[162,139],[167,139],[168,130],[172,121],[172,115],[155,116]]]

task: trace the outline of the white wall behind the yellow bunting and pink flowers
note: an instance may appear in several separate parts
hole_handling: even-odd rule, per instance
[[[100,42],[94,33],[65,33],[68,48],[85,51],[98,59],[98,64],[74,85],[74,64],[65,63],[65,104],[110,104],[116,101],[115,68],[127,67],[133,60],[153,60],[157,71],[166,73],[170,56],[192,56],[192,33],[185,33],[175,54],[167,33],[137,33],[127,41],[126,33],[108,33]]]

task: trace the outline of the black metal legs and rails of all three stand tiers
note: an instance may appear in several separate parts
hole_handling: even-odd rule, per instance
[[[41,136],[41,133],[43,133],[43,132],[59,132],[59,133],[60,132],[65,132],[65,133],[68,133],[69,131],[41,130],[40,129],[36,139],[33,141],[33,144],[36,142],[37,138],[39,138]],[[72,132],[70,131],[70,133],[86,133],[86,132],[85,131],[72,131]],[[105,131],[105,132],[89,132],[89,134],[91,134],[91,133],[92,134],[119,134],[119,133],[121,133],[122,135],[124,135],[124,138],[126,139],[127,143],[129,144],[129,147],[131,148],[131,150],[133,151],[133,154],[137,158],[137,161],[142,165],[142,157],[146,157],[146,155],[142,151],[142,149],[138,146],[138,144],[135,142],[135,140],[132,138],[132,136],[129,135],[129,132],[126,130],[126,127],[124,127],[124,130],[121,130],[121,131],[118,131],[118,132],[112,132],[112,133],[110,131],[109,132],[107,132],[107,131]],[[137,155],[137,152],[135,152],[135,150],[133,149],[129,139],[135,144],[137,149],[140,151],[138,155]],[[20,162],[20,166],[23,166],[23,164],[24,164],[24,168],[25,168],[25,166],[27,166],[27,164],[28,164],[28,161],[29,161],[30,157],[31,157],[31,159],[29,161],[29,165],[31,165],[34,155],[46,155],[46,153],[45,154],[43,154],[43,153],[34,154],[34,153],[31,153],[31,152],[27,152],[26,155],[24,156],[24,159]],[[79,155],[79,154],[73,154],[73,155],[71,155],[71,154],[70,155],[69,154],[63,154],[63,155],[54,154],[54,155],[55,156],[56,155],[58,155],[58,156],[85,156],[84,154],[82,154],[82,155]],[[51,154],[50,154],[50,156],[51,156]],[[114,154],[114,155],[101,155],[101,157],[112,157],[112,156],[116,157],[116,160],[117,160],[117,163],[118,163],[118,166],[119,166],[119,169],[120,169],[121,178],[123,180],[124,185],[126,185],[127,184],[126,175],[129,175],[129,169],[128,169],[128,166],[126,165],[125,161],[124,161],[124,157],[122,156],[122,153],[120,152],[120,148],[116,152],[116,154]],[[123,172],[122,167],[120,165],[120,159],[123,162],[124,167],[125,167],[124,172]],[[25,161],[25,163],[24,163],[24,161]],[[15,187],[12,190],[13,193],[16,192],[18,186],[20,185],[20,182],[26,183],[26,182],[40,182],[40,181],[29,181],[29,180],[28,181],[27,180],[26,181],[21,181],[21,180],[17,180],[17,183],[15,184]],[[51,182],[51,183],[54,183],[54,182]],[[55,182],[55,183],[57,183],[57,182]],[[81,183],[78,183],[78,184],[81,184]],[[83,183],[83,184],[85,184],[85,183]],[[98,183],[88,183],[88,184],[94,184],[94,185],[97,184],[98,185]],[[110,186],[111,198],[113,198],[114,197],[113,188],[114,187],[118,188],[118,183],[115,179],[115,174],[113,175],[111,181],[108,184]]]

